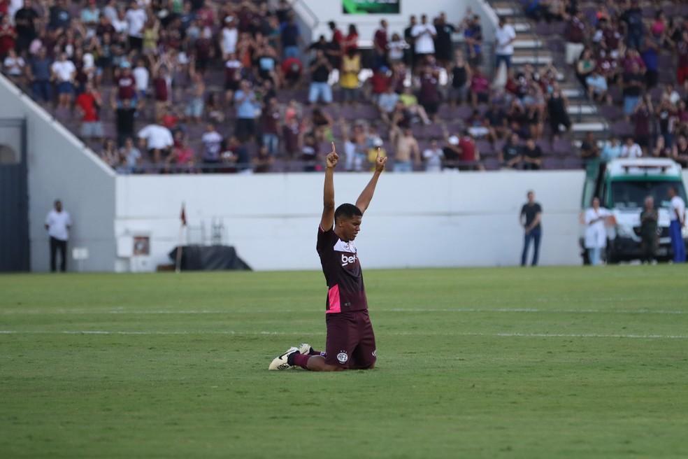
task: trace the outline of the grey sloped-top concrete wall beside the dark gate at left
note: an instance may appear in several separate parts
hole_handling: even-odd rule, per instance
[[[89,249],[83,268],[112,271],[115,174],[3,76],[0,101],[0,118],[27,120],[31,270],[48,270],[48,235],[43,223],[52,202],[59,198],[74,223],[70,246]],[[76,264],[71,262],[69,269],[76,269]]]

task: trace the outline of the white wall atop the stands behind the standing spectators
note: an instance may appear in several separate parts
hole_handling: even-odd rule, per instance
[[[327,22],[334,20],[338,27],[346,34],[349,24],[356,24],[361,40],[373,39],[373,33],[378,28],[380,20],[385,18],[389,23],[390,32],[399,32],[403,36],[403,29],[408,27],[408,17],[416,15],[420,22],[420,15],[427,14],[429,21],[444,11],[447,19],[454,25],[461,22],[466,14],[466,8],[470,7],[474,14],[480,15],[482,33],[485,41],[494,41],[494,31],[497,25],[497,17],[494,10],[489,7],[485,0],[401,0],[401,13],[398,15],[347,15],[342,13],[341,0],[295,0],[294,9],[307,26],[312,29],[312,39],[315,40],[321,34],[328,39],[330,31]],[[308,8],[317,17],[312,21],[312,15],[308,13]]]

